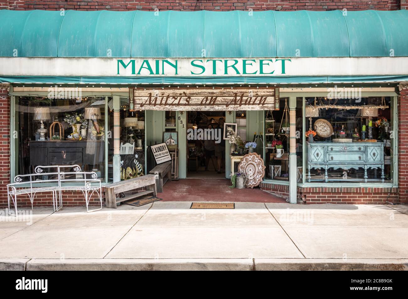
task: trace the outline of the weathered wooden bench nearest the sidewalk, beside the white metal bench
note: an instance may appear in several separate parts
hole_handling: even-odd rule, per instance
[[[141,187],[146,187],[147,190],[127,195],[125,197],[116,198],[116,194],[135,190]],[[105,185],[106,208],[116,209],[117,203],[120,203],[122,201],[128,201],[129,199],[138,198],[148,194],[156,196],[155,174],[146,174],[145,176],[139,176],[138,178],[120,181],[117,183],[111,183]]]

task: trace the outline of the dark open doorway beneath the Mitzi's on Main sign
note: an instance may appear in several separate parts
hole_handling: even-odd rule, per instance
[[[225,179],[225,111],[188,111],[188,179]]]

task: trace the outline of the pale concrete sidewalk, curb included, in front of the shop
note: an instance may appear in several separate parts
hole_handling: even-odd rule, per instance
[[[407,206],[190,205],[0,210],[0,270],[408,270]]]

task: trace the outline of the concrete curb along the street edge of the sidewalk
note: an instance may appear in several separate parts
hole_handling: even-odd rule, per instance
[[[408,270],[408,259],[0,259],[0,270]]]

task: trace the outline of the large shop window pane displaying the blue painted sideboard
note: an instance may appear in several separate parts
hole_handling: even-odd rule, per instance
[[[306,182],[392,183],[391,99],[305,98]]]

